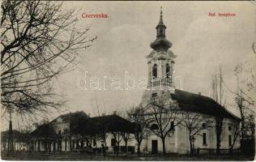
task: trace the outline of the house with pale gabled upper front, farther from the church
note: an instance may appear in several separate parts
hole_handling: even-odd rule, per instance
[[[32,151],[73,151],[78,149],[79,134],[75,129],[79,122],[87,119],[83,111],[66,113],[52,122],[45,123],[32,131]]]

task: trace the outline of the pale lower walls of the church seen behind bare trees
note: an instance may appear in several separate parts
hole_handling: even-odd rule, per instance
[[[207,119],[211,118],[212,124],[210,128],[205,130],[201,130],[198,135],[195,135],[194,140],[194,149],[216,149],[216,133],[215,133],[215,118],[211,116],[205,116]],[[203,122],[202,122],[203,124]],[[228,153],[229,145],[229,135],[234,136],[234,126],[236,126],[236,122],[232,119],[225,118],[223,133],[221,136],[221,147],[220,149],[227,149],[226,153]],[[228,130],[228,126],[233,126],[232,130]],[[144,153],[151,153],[152,146],[151,141],[157,140],[157,149],[158,153],[163,151],[162,149],[162,141],[155,134],[151,133],[149,130],[148,137],[143,139],[143,143],[141,145],[141,151]],[[203,133],[207,135],[207,143],[203,144]],[[233,141],[232,141],[233,142]],[[240,147],[240,139],[237,137],[236,143],[234,144],[233,149],[237,149]],[[174,134],[167,135],[165,139],[165,150],[166,153],[177,153],[177,154],[189,154],[190,153],[190,140],[189,140],[189,130],[186,126],[178,125],[175,127]],[[203,151],[200,151],[203,153]],[[206,151],[208,152],[208,151]]]

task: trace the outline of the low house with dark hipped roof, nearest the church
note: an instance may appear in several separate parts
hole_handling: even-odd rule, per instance
[[[84,135],[87,139],[92,139],[92,147],[105,147],[107,152],[113,153],[117,151],[117,148],[124,152],[127,144],[128,151],[134,153],[134,123],[123,117],[116,114],[90,117],[79,127],[82,126],[85,126],[83,127]],[[125,143],[126,138],[127,143]]]

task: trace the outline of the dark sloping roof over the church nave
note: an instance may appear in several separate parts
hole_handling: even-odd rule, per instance
[[[211,116],[227,117],[234,120],[241,120],[239,117],[228,112],[223,106],[207,96],[176,89],[171,94],[173,100],[177,100],[181,109],[196,113],[204,113]]]

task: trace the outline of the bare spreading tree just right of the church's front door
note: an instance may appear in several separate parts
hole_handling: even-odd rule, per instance
[[[151,132],[160,137],[163,144],[163,155],[165,155],[165,138],[172,135],[175,126],[181,123],[177,117],[177,104],[171,104],[168,96],[152,97],[147,106],[147,121],[156,124],[157,128],[152,128]]]

